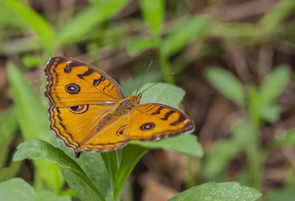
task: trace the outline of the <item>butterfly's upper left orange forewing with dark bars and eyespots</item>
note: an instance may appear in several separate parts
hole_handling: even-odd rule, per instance
[[[66,57],[52,57],[45,69],[45,96],[53,106],[114,104],[124,99],[118,83],[103,71]]]

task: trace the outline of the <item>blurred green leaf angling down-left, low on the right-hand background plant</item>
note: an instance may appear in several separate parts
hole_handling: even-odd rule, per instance
[[[202,159],[201,170],[206,180],[222,173],[229,162],[243,147],[233,139],[221,139],[215,143],[210,152]]]

